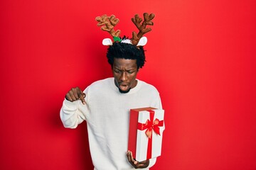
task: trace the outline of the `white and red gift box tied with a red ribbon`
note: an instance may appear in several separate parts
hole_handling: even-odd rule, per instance
[[[130,110],[128,150],[142,162],[161,155],[164,110],[135,108]]]

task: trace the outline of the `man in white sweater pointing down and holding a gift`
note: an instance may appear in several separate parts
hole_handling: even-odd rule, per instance
[[[107,50],[113,77],[95,81],[83,92],[71,89],[60,110],[65,128],[76,128],[86,120],[95,170],[149,169],[156,162],[137,162],[127,151],[129,110],[161,108],[161,99],[154,86],[137,79],[145,62],[144,48],[126,41],[114,42]]]

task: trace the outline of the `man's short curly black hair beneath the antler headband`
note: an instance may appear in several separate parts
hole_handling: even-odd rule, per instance
[[[113,66],[114,58],[137,60],[137,68],[142,68],[146,62],[143,46],[135,46],[124,42],[113,42],[107,49],[107,61]]]

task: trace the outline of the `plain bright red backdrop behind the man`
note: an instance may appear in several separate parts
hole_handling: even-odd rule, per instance
[[[92,169],[86,123],[63,128],[73,86],[110,77],[96,16],[131,37],[155,13],[138,78],[159,89],[163,152],[152,169],[256,169],[256,1],[0,2],[1,169]]]

